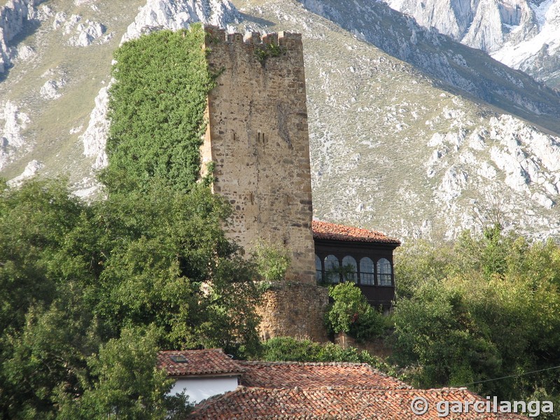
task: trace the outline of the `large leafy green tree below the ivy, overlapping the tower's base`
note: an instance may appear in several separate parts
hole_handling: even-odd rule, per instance
[[[106,335],[155,323],[167,348],[258,346],[255,271],[224,235],[221,197],[155,184],[95,206],[90,230],[110,255],[94,296]]]

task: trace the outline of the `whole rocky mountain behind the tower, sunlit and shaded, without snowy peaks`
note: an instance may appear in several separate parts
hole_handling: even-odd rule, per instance
[[[25,4],[20,32],[4,41],[0,83],[0,174],[13,183],[66,173],[76,194],[94,193],[112,51],[144,31],[202,20],[303,34],[317,218],[402,238],[449,238],[494,221],[560,237],[558,94],[384,3]]]

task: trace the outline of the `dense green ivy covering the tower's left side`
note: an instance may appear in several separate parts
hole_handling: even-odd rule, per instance
[[[201,25],[158,31],[115,53],[111,127],[102,179],[114,188],[148,188],[152,179],[188,190],[200,173],[204,110],[214,86]]]

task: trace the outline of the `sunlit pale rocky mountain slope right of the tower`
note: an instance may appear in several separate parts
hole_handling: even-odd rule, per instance
[[[493,221],[560,233],[557,137],[449,92],[295,1],[234,3],[252,16],[244,29],[302,31],[316,217],[400,237],[453,237]],[[331,4],[313,10],[335,19]],[[398,28],[340,8],[344,22]],[[394,41],[394,30],[371,33]]]

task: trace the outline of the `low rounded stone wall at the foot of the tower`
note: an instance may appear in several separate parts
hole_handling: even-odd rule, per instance
[[[328,288],[306,283],[273,283],[257,314],[261,339],[295,337],[327,342],[325,311]]]

